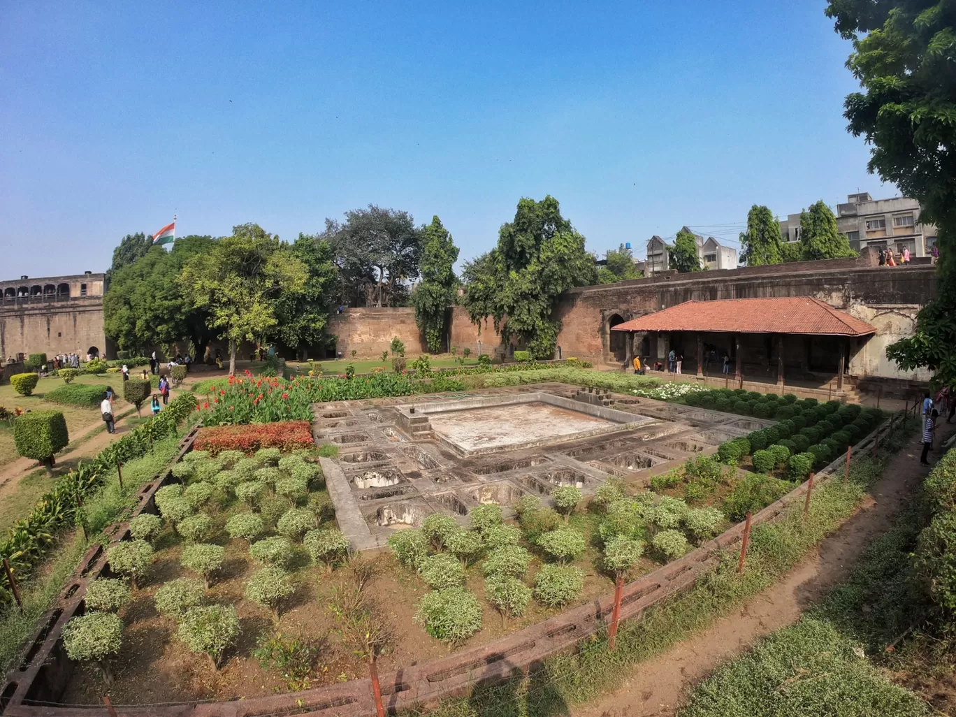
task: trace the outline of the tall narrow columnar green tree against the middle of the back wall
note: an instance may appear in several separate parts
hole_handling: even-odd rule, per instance
[[[458,261],[458,247],[438,216],[422,228],[422,282],[412,292],[415,305],[415,321],[424,332],[428,351],[437,354],[442,350],[445,333],[445,314],[455,301],[458,277],[454,264]]]

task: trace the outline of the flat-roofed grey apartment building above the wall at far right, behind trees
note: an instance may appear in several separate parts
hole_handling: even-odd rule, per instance
[[[920,203],[915,199],[873,199],[868,192],[847,195],[846,204],[836,205],[836,229],[846,234],[856,250],[873,247],[913,256],[926,256],[936,243],[936,227],[920,223]],[[785,242],[800,239],[800,215],[789,214],[780,222]]]

